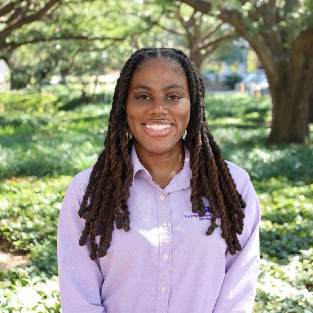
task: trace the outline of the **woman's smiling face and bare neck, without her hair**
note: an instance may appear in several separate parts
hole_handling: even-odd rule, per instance
[[[152,181],[159,186],[164,181],[163,188],[170,182],[166,177],[182,168],[182,135],[189,115],[190,96],[181,67],[151,59],[136,69],[128,87],[126,119],[139,161]]]

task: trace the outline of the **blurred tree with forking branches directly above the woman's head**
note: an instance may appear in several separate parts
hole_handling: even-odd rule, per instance
[[[185,3],[164,0],[146,1],[146,4],[148,3],[152,4],[152,7],[154,4],[154,9],[146,17],[147,22],[159,26],[166,32],[162,38],[163,43],[165,41],[164,45],[187,50],[186,53],[200,72],[204,60],[218,48],[219,44],[234,36],[234,30],[230,25],[195,11]],[[168,44],[168,40],[164,38],[171,34],[176,36],[172,40],[174,45]]]

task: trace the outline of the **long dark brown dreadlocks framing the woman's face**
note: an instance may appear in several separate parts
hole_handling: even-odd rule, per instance
[[[191,207],[199,217],[205,215],[202,197],[210,203],[213,217],[206,232],[211,235],[221,218],[221,236],[226,240],[230,254],[241,250],[237,234],[244,228],[244,203],[229,173],[227,163],[209,131],[205,116],[204,84],[194,64],[181,50],[143,48],[127,60],[118,78],[113,95],[104,150],[100,153],[90,174],[78,215],[86,220],[79,244],[86,244],[90,236],[90,258],[103,257],[110,247],[112,231],[130,230],[127,199],[133,182],[130,152],[134,139],[128,142],[124,133],[126,97],[132,74],[148,59],[163,58],[177,64],[185,74],[190,94],[190,119],[184,144],[190,151]],[[95,237],[100,235],[99,247]]]

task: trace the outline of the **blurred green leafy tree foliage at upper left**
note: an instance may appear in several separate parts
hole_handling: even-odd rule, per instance
[[[124,42],[143,33],[141,17],[128,14],[138,12],[138,6],[124,3],[123,10],[121,2],[114,0],[107,0],[105,6],[102,0],[68,1],[42,20],[16,29],[0,40],[0,57],[11,69],[11,88],[23,88],[31,78],[40,83],[52,75],[100,74],[103,50],[110,67],[120,68],[125,61]],[[149,29],[147,25],[145,31]]]

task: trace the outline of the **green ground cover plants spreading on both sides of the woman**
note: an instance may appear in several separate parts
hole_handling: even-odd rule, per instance
[[[55,95],[0,95],[4,313],[60,312],[59,209],[73,175],[92,165],[103,147],[110,106],[75,105],[71,99],[74,109],[64,111],[66,97]],[[24,97],[23,107],[18,96]],[[217,94],[206,103],[224,157],[249,172],[262,207],[254,312],[312,312],[313,145],[266,144],[269,98]]]

